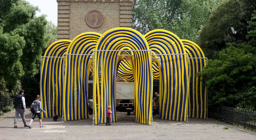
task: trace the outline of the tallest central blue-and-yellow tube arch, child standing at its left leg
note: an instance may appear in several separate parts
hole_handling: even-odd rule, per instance
[[[118,66],[124,52],[130,52],[134,76],[135,122],[151,124],[152,117],[152,51],[144,36],[131,28],[106,31],[94,50],[94,96],[101,91],[98,109],[94,109],[95,124],[106,122],[106,110],[112,106],[112,122],[117,121],[115,111],[115,85]],[[101,81],[101,82],[100,82]],[[99,88],[99,84],[101,88]],[[98,95],[99,96],[99,95]],[[94,106],[96,100],[94,99]],[[100,103],[100,104],[99,104]]]

